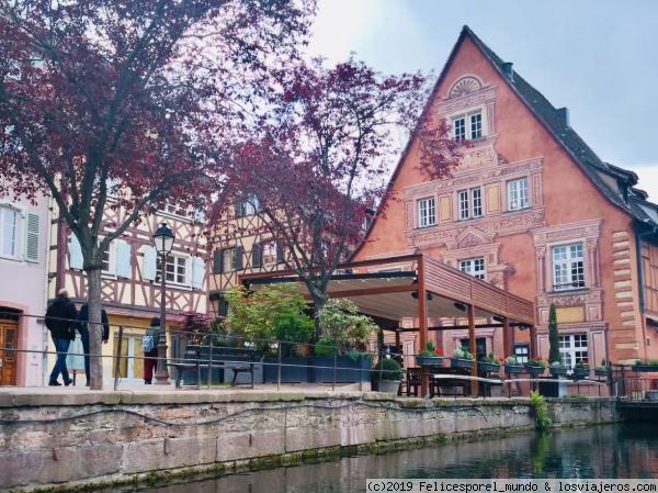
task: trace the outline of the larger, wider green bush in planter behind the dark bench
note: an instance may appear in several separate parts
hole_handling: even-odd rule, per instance
[[[313,318],[306,314],[307,302],[294,293],[293,284],[264,287],[249,293],[242,285],[225,292],[228,302],[226,332],[252,339],[258,349],[269,351],[275,340],[307,343],[314,330]],[[295,352],[294,344],[284,344],[284,356]]]

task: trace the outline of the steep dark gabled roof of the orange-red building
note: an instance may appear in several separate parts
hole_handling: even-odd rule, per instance
[[[634,219],[638,221],[645,221],[647,219],[653,220],[643,208],[639,206],[636,199],[639,197],[635,195],[631,192],[633,186],[637,183],[637,175],[633,171],[628,171],[622,169],[620,167],[609,165],[601,160],[594,152],[585,143],[582,138],[567,124],[565,119],[560,115],[558,110],[548,102],[544,96],[535,88],[533,88],[525,79],[523,79],[517,71],[512,69],[513,77],[510,79],[508,75],[503,71],[503,60],[500,58],[491,48],[489,48],[483,41],[475,35],[475,33],[465,25],[462,29],[462,33],[455,46],[453,47],[436,82],[434,88],[432,89],[432,93],[426,104],[423,110],[424,113],[431,110],[432,103],[436,100],[439,96],[439,89],[443,85],[445,76],[449,71],[450,66],[452,65],[454,58],[456,57],[462,44],[465,38],[469,38],[475,46],[479,48],[485,58],[489,60],[489,63],[495,67],[495,69],[499,72],[501,79],[510,87],[510,89],[519,97],[519,99],[525,104],[525,107],[530,110],[530,112],[537,119],[537,121],[546,128],[546,131],[555,138],[555,141],[561,146],[561,148],[571,156],[571,159],[580,167],[587,178],[601,191],[601,193],[615,206],[620,208]],[[420,121],[421,119],[419,119]],[[393,176],[389,181],[389,187],[392,187],[400,172],[402,164],[405,163],[410,149],[412,139],[407,143],[402,155],[397,164],[396,169],[393,172]],[[628,193],[625,193],[626,197],[622,197],[615,190],[613,190],[601,177],[601,173],[611,177],[612,179],[617,180],[617,182],[623,183],[624,187],[627,187]],[[635,191],[637,193],[637,191]],[[639,193],[642,194],[642,192]],[[638,194],[638,195],[639,195]],[[646,194],[643,197],[644,205],[650,206],[651,209],[658,209],[655,204],[650,204],[646,202]],[[378,220],[378,216],[375,217],[374,222]],[[373,222],[373,223],[374,223]],[[371,232],[373,231],[373,225],[368,229],[366,235],[366,240],[370,237]],[[356,249],[358,253],[361,247],[365,244],[365,242]]]

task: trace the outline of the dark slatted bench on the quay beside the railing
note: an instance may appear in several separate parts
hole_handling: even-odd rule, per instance
[[[236,347],[192,346],[185,348],[182,359],[170,360],[168,366],[175,368],[175,386],[180,389],[181,380],[186,371],[196,370],[196,385],[201,385],[201,369],[211,370],[214,367],[224,367],[234,372],[230,386],[237,385],[238,374],[249,372],[251,388],[253,389],[253,365],[261,360],[263,354],[257,349]],[[211,371],[208,371],[208,378]]]

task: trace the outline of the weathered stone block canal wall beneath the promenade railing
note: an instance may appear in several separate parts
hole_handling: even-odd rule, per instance
[[[533,426],[527,400],[395,400],[373,392],[16,394],[0,396],[0,406],[5,491],[230,471],[340,447],[367,451]],[[549,410],[556,424],[617,418],[610,400],[556,400]]]

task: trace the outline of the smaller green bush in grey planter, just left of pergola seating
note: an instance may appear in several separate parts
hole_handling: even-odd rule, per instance
[[[338,347],[344,354],[364,346],[373,333],[379,332],[370,316],[360,314],[356,305],[344,299],[329,300],[318,313],[318,320],[322,336],[316,346],[317,355],[318,349],[322,351],[325,347]]]

